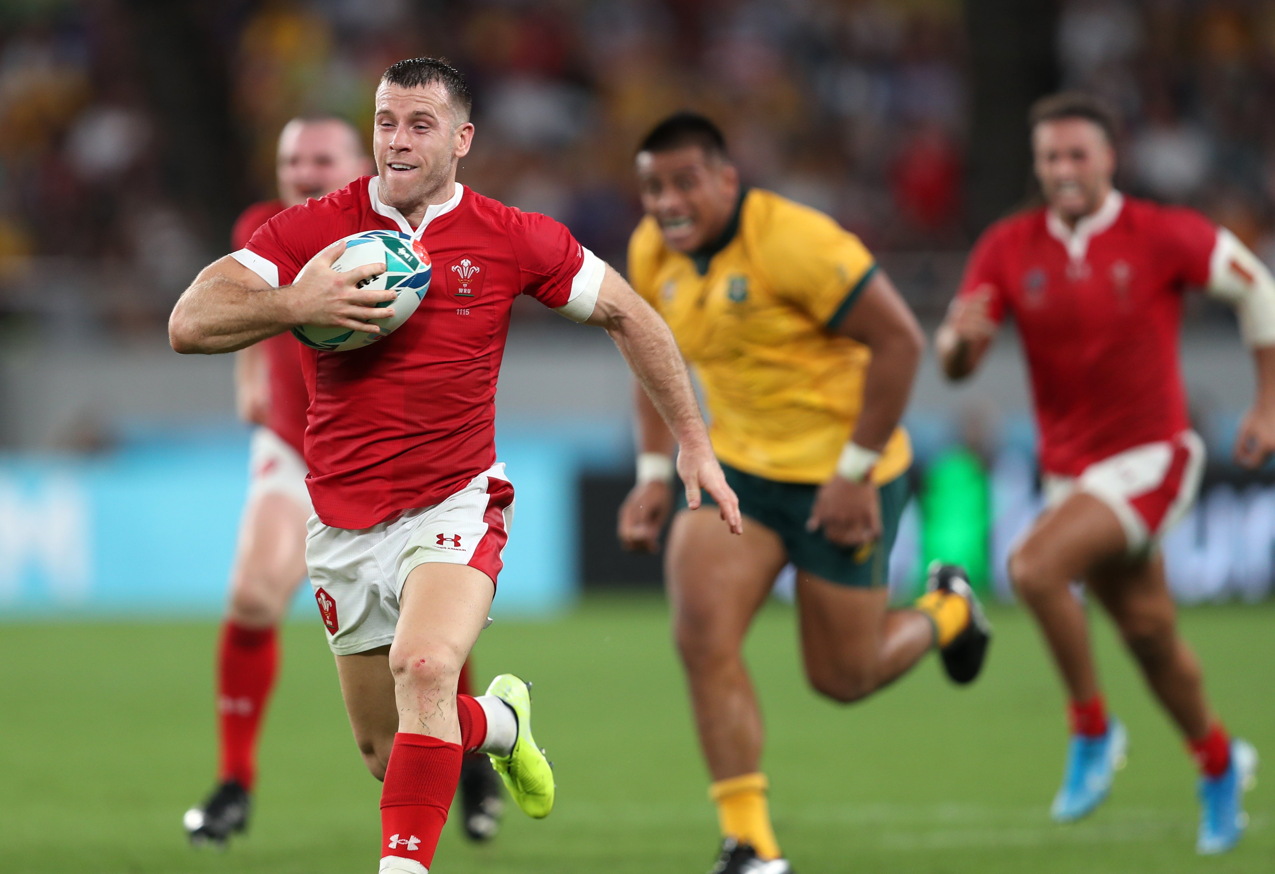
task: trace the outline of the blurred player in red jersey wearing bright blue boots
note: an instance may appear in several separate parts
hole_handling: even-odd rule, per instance
[[[1105,712],[1084,581],[1107,609],[1151,690],[1200,764],[1197,850],[1239,840],[1257,755],[1205,700],[1200,665],[1177,633],[1156,549],[1190,509],[1204,471],[1178,362],[1183,292],[1235,306],[1257,370],[1235,458],[1257,467],[1275,449],[1275,281],[1244,245],[1197,212],[1112,188],[1113,116],[1065,93],[1031,112],[1035,174],[1047,205],[991,227],[936,337],[943,370],[968,376],[1012,314],[1026,353],[1048,509],[1010,558],[1070,697],[1071,745],[1060,822],[1107,796],[1127,736]]]

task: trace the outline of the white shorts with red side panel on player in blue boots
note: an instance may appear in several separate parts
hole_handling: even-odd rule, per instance
[[[1154,546],[1191,509],[1204,476],[1204,440],[1195,431],[1182,431],[1172,440],[1144,443],[1094,462],[1079,477],[1046,473],[1048,507],[1084,491],[1112,508],[1128,551]]]

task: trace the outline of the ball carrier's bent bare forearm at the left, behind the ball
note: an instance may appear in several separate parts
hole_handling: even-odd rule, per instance
[[[252,290],[200,276],[168,318],[168,342],[184,355],[235,352],[292,327],[288,288]]]

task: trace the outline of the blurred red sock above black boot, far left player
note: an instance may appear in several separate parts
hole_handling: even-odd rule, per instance
[[[273,628],[222,626],[217,653],[217,711],[221,780],[251,790],[256,780],[256,740],[261,716],[279,671],[279,641]]]

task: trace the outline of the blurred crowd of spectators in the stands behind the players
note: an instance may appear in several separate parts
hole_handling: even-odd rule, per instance
[[[464,181],[565,221],[616,263],[638,217],[632,144],[678,107],[722,121],[752,184],[876,249],[959,251],[978,231],[963,204],[959,0],[194,5],[219,59],[204,68],[219,82],[195,88],[166,75],[152,41],[167,34],[144,4],[0,9],[5,310],[34,306],[33,273],[42,306],[82,310],[74,290],[91,276],[102,322],[154,327],[224,251],[233,209],[272,194],[280,125],[325,111],[368,126],[380,71],[419,54],[473,82],[483,135]],[[1198,205],[1275,258],[1275,3],[1067,0],[1056,33],[1060,80],[1105,94],[1127,122],[1123,185]],[[223,120],[173,124],[173,101],[204,94],[193,111]],[[208,154],[191,130],[226,131],[210,166],[191,166]]]

